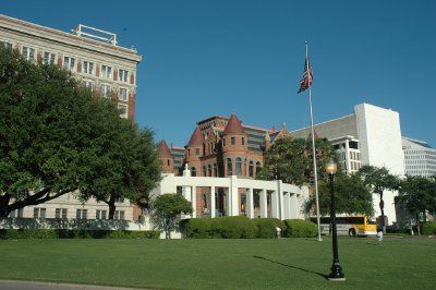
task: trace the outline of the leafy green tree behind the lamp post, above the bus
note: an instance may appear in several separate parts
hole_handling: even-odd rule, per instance
[[[349,215],[373,215],[371,193],[356,174],[347,174],[338,171],[335,177],[336,210]],[[315,206],[315,197],[312,196],[306,204],[306,212]],[[330,214],[330,188],[326,179],[319,182],[319,212],[322,215]]]

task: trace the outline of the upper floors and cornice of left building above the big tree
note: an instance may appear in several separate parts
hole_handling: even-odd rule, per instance
[[[135,49],[117,45],[117,35],[78,25],[65,33],[0,14],[0,45],[28,61],[58,65],[102,97],[118,104],[122,118],[135,118]]]

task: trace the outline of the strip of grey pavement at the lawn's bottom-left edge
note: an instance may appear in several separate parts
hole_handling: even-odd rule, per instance
[[[55,282],[36,282],[36,281],[16,281],[16,280],[0,280],[1,290],[133,290],[134,288],[120,287],[104,287],[93,285],[76,285],[76,283],[55,283]],[[137,288],[135,289],[137,290]]]

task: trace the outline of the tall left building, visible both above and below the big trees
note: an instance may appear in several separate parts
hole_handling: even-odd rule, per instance
[[[84,25],[65,33],[0,14],[0,45],[28,61],[71,71],[83,86],[113,99],[120,117],[135,118],[136,67],[142,57],[135,49],[118,46],[117,35]],[[137,210],[129,201],[117,203],[116,219],[132,220]],[[71,193],[14,210],[10,217],[106,219],[108,213],[105,203],[83,203]]]

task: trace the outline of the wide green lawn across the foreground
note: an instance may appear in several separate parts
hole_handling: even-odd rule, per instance
[[[436,240],[7,240],[0,278],[172,289],[434,289]]]

